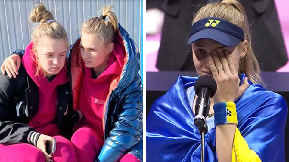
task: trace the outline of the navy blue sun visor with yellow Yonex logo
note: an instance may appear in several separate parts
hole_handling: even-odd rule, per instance
[[[212,39],[228,47],[244,41],[244,31],[235,24],[216,17],[200,19],[191,27],[188,45],[199,39]]]

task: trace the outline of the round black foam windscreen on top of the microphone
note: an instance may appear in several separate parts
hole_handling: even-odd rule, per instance
[[[200,76],[199,79],[197,79],[194,87],[196,94],[199,94],[199,90],[201,89],[201,87],[207,87],[210,89],[210,97],[213,97],[217,91],[217,83],[213,76],[210,75],[203,75]]]

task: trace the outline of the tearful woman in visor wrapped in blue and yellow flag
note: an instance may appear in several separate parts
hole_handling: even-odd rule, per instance
[[[203,116],[206,162],[285,161],[287,104],[266,90],[251,43],[244,8],[236,0],[209,3],[194,16],[188,38],[192,59],[200,79],[216,84]],[[179,76],[154,102],[147,118],[148,161],[201,161],[194,123],[201,103],[198,78]]]

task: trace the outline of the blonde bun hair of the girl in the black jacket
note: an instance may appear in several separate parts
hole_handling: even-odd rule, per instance
[[[33,29],[33,45],[40,45],[42,38],[48,37],[53,39],[64,39],[67,42],[68,47],[68,38],[64,27],[54,20],[52,13],[46,10],[46,7],[42,3],[39,4],[40,5],[35,7],[29,15],[29,19],[32,22],[39,23]],[[35,75],[38,76],[41,70],[43,73],[45,73],[39,63],[39,59],[36,57],[36,59],[33,59],[33,61],[35,61],[37,64]]]

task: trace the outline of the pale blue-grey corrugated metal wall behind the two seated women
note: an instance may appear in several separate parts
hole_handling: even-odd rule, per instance
[[[141,0],[0,0],[0,64],[15,49],[25,49],[29,44],[34,23],[28,21],[28,16],[36,2],[42,2],[64,25],[70,44],[84,21],[99,16],[97,12],[104,4],[112,4],[120,24],[142,51]]]

